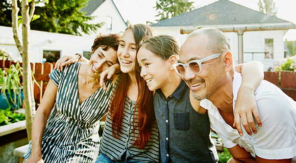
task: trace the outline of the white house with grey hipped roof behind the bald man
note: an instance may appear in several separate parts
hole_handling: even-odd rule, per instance
[[[153,24],[158,34],[168,34],[183,42],[185,35],[181,29],[197,29],[202,27],[225,28],[253,25],[285,25],[289,21],[270,16],[228,0],[216,1],[193,11],[174,16]],[[244,62],[252,60],[264,64],[266,71],[274,62],[284,58],[283,37],[287,30],[255,31],[243,34]],[[234,32],[225,33],[230,41],[235,64],[238,63],[238,38]]]

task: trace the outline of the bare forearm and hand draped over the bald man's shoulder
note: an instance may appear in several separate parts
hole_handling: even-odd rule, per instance
[[[237,100],[234,110],[234,124],[237,131],[242,135],[241,123],[248,132],[252,135],[252,131],[257,133],[254,123],[253,115],[257,121],[258,126],[262,126],[262,122],[258,113],[254,92],[264,77],[264,66],[259,61],[251,61],[248,63],[235,66],[235,71],[242,74],[242,83],[238,91]],[[252,130],[250,129],[251,126]]]

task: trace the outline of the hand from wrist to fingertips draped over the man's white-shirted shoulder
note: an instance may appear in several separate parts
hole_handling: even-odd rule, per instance
[[[245,131],[248,132],[249,135],[252,135],[252,131],[253,133],[257,133],[253,115],[257,121],[258,126],[261,127],[262,122],[258,113],[254,92],[250,88],[241,87],[239,89],[235,102],[233,124],[240,135],[243,135],[240,120]],[[250,129],[250,127],[252,128],[252,130]]]

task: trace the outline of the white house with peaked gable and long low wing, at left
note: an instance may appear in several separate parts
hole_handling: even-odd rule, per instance
[[[89,5],[83,10],[89,11],[91,16],[97,15],[92,20],[92,23],[106,22],[109,18],[111,18],[111,21],[105,23],[98,32],[84,36],[31,30],[30,62],[42,63],[45,61],[43,58],[47,58],[47,61],[49,61],[51,59],[58,59],[63,55],[74,55],[75,53],[83,53],[87,56],[87,53],[91,51],[93,40],[97,34],[119,33],[127,28],[127,24],[122,19],[112,0],[91,0]],[[21,29],[18,31],[19,38],[21,39]],[[0,46],[12,53],[13,58],[20,57],[13,39],[12,28],[0,26]]]

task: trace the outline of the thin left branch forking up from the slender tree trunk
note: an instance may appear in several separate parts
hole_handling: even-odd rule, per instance
[[[19,37],[18,37],[18,25],[17,25],[17,20],[18,20],[18,11],[19,8],[17,7],[17,0],[12,0],[12,32],[13,32],[13,39],[15,41],[16,47],[20,53],[20,55],[22,56],[22,45],[19,41]]]

